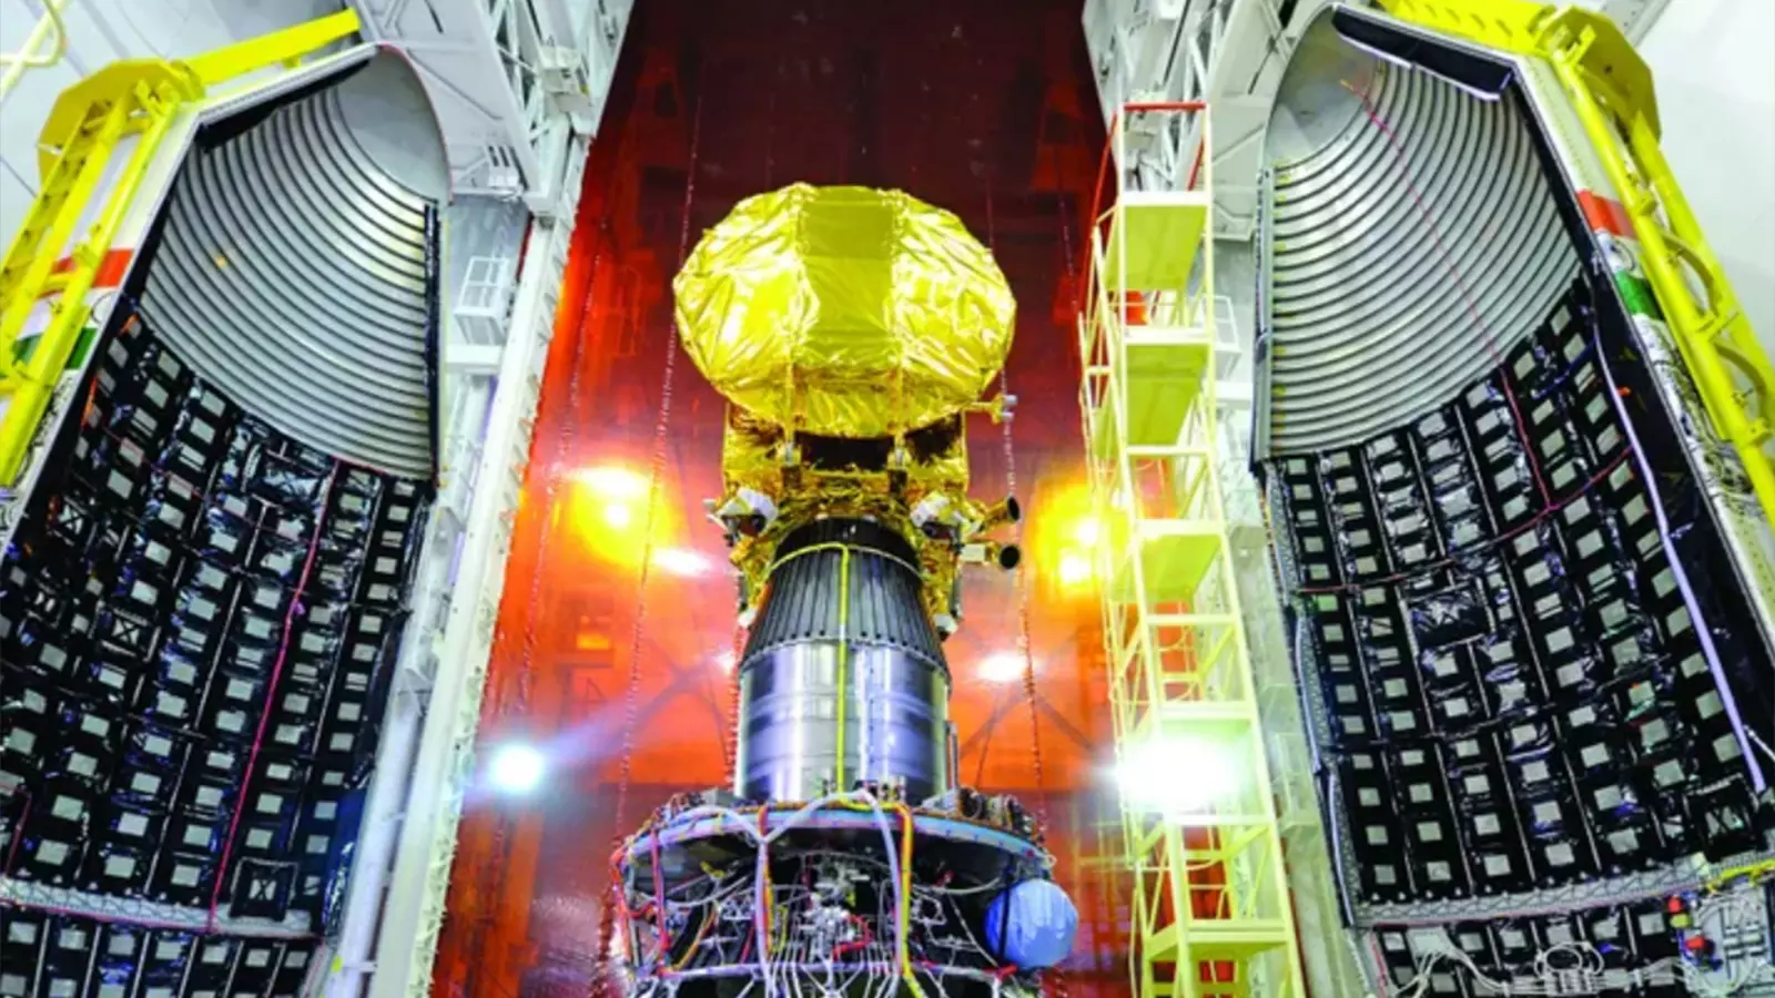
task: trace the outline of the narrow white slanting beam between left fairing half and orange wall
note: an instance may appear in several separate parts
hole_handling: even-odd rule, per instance
[[[371,824],[366,826],[366,844],[353,874],[353,911],[343,934],[330,998],[362,994],[366,977],[373,998],[424,996],[431,987],[456,826],[472,783],[476,728],[506,584],[506,554],[531,456],[531,430],[573,238],[586,151],[584,137],[570,140],[561,215],[536,218],[531,226],[511,307],[511,332],[492,380],[485,435],[474,433],[483,423],[472,416],[463,423],[463,437],[479,440],[477,460],[460,471],[467,478],[472,467],[472,479],[463,483],[463,499],[451,495],[451,503],[462,504],[442,513],[460,520],[440,526],[442,536],[433,538],[435,549],[426,554],[421,579],[440,584],[421,588],[417,595],[433,602],[415,606],[405,636],[415,664],[403,668],[401,678],[414,684],[414,703],[428,703],[422,717],[403,700],[390,703],[383,758],[376,767],[376,785],[385,792],[378,799],[376,788],[371,790]],[[458,375],[470,384],[481,376]],[[463,396],[469,412],[476,412],[476,400],[486,398],[476,391]],[[405,748],[392,744],[396,735]],[[351,923],[353,916],[359,922]],[[367,952],[371,939],[373,959]]]

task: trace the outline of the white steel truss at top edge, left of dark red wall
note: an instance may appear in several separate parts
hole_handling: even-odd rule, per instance
[[[596,130],[634,0],[351,0],[426,82],[458,195],[561,217],[575,135]]]

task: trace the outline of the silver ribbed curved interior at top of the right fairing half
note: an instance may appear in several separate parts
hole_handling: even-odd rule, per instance
[[[1512,101],[1372,59],[1326,16],[1308,36],[1267,140],[1269,455],[1448,401],[1578,265]]]

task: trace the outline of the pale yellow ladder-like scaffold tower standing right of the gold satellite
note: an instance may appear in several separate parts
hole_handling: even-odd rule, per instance
[[[1207,146],[1202,105],[1124,114],[1198,115]],[[1216,474],[1212,178],[1124,192],[1120,172],[1077,332],[1134,987],[1305,998]]]

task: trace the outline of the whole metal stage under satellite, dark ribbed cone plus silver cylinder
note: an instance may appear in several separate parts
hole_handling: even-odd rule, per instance
[[[735,792],[809,801],[859,781],[950,788],[950,671],[912,547],[868,520],[790,533],[740,659]]]

